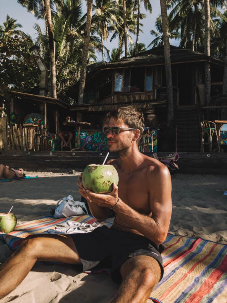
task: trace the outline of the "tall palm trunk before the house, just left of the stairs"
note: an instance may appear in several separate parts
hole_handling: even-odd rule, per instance
[[[162,29],[163,29],[163,45],[165,57],[165,70],[166,70],[166,95],[167,95],[167,126],[169,134],[173,135],[173,84],[170,60],[170,47],[169,47],[169,29],[168,17],[166,10],[166,0],[160,0],[161,15],[162,15]]]

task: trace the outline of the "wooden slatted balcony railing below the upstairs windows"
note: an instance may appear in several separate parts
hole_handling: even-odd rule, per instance
[[[154,93],[153,92],[138,92],[138,93],[119,93],[119,94],[113,94],[111,96],[108,96],[99,104],[105,104],[105,103],[131,103],[133,101],[138,100],[152,100],[154,99]]]

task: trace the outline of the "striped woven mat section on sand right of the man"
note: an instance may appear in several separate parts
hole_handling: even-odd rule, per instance
[[[226,303],[227,245],[168,234],[163,279],[152,297],[163,303]]]

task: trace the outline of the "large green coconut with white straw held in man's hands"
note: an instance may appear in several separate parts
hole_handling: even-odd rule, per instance
[[[117,185],[118,180],[118,173],[113,165],[89,164],[82,175],[84,188],[99,194],[111,192],[113,182]]]

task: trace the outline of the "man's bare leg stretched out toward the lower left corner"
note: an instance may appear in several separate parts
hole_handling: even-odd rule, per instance
[[[36,261],[81,263],[70,236],[29,236],[22,242],[21,247],[0,266],[0,299],[24,280]]]

